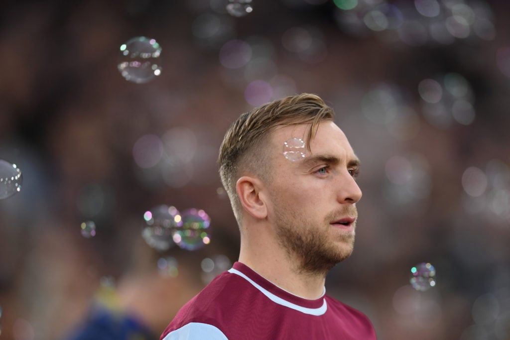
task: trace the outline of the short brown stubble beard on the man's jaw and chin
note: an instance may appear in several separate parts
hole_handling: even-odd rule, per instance
[[[301,274],[326,274],[344,259],[354,247],[354,233],[342,233],[330,239],[329,225],[338,214],[330,214],[321,225],[303,218],[289,207],[280,207],[276,216],[276,237],[289,258],[297,259],[295,270]],[[339,247],[338,244],[342,244]]]

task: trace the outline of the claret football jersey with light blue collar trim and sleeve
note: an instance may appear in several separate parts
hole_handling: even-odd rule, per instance
[[[160,340],[375,340],[360,311],[325,294],[300,298],[236,262],[185,304]]]

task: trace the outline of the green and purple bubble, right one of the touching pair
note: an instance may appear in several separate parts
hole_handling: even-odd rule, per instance
[[[181,216],[182,224],[172,233],[176,245],[187,250],[197,250],[211,242],[211,236],[207,232],[211,219],[205,211],[192,208]]]

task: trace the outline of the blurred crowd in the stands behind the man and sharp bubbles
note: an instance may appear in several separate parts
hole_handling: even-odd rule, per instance
[[[172,256],[168,294],[126,303],[160,311],[147,322],[159,336],[207,283],[203,258],[237,259],[216,165],[224,132],[301,92],[335,109],[362,161],[354,253],[328,293],[380,340],[510,339],[510,6],[253,0],[237,16],[227,4],[0,4],[0,159],[23,173],[0,200],[0,339],[64,339],[105,282],[132,301]],[[140,36],[162,49],[143,84],[117,66]],[[160,204],[206,211],[210,244],[145,244],[143,214]],[[409,284],[419,263],[437,271],[424,292]]]

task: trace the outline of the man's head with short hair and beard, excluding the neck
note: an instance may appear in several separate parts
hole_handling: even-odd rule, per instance
[[[263,221],[302,272],[326,273],[352,252],[359,161],[333,117],[316,95],[286,97],[241,115],[220,150],[241,232],[244,219]],[[289,158],[296,141],[305,147]]]

